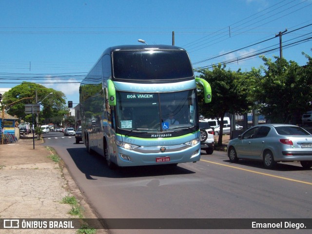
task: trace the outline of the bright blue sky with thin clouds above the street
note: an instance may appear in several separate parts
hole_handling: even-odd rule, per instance
[[[283,58],[305,65],[311,12],[312,0],[0,0],[0,88],[36,82],[75,106],[106,48],[172,45],[173,35],[193,68],[259,68],[260,55],[279,57],[279,32]]]

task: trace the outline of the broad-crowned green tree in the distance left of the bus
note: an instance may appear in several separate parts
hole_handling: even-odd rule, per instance
[[[22,119],[29,118],[25,114],[25,104],[36,104],[36,91],[38,96],[38,101],[42,100],[41,105],[43,106],[42,111],[39,114],[39,119],[43,122],[46,122],[46,119],[64,116],[68,113],[67,109],[65,111],[65,95],[61,91],[56,91],[52,88],[46,88],[43,85],[31,83],[31,82],[22,82],[20,85],[17,85],[10,89],[3,95],[3,102],[9,104],[20,100],[22,98],[33,98],[33,99],[24,99],[20,102],[11,105],[8,110],[8,114],[12,116],[17,116]],[[53,93],[48,98],[45,98],[48,94]],[[41,122],[39,121],[39,122]]]

